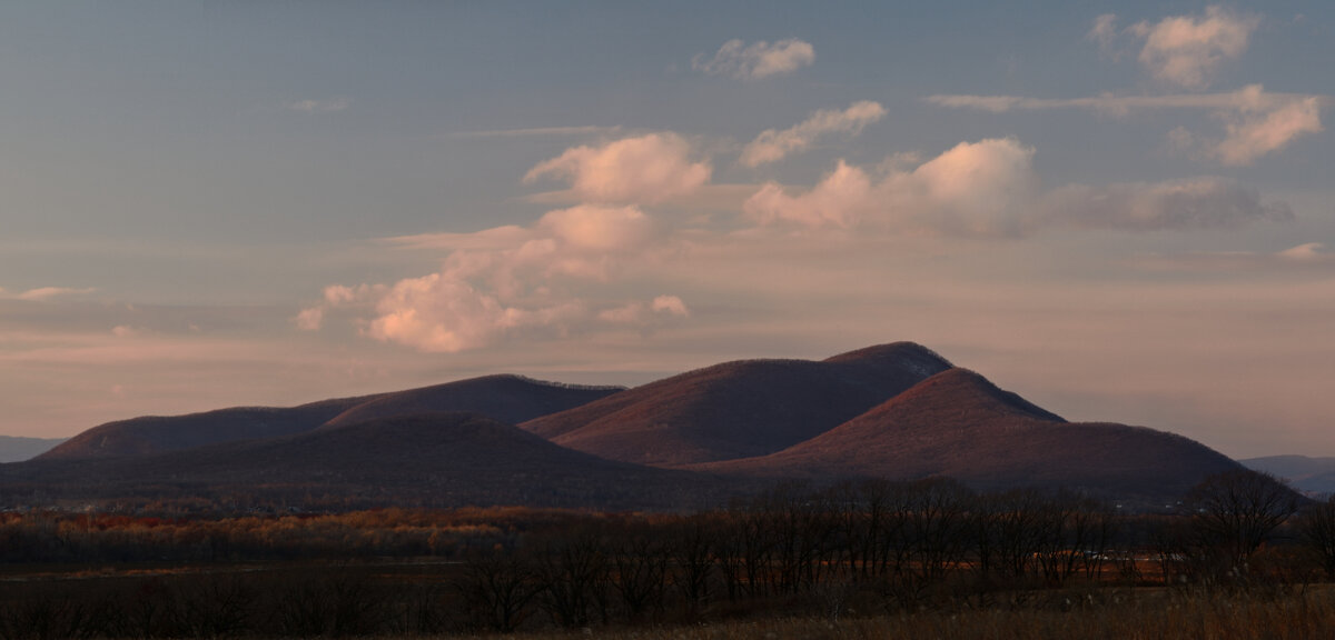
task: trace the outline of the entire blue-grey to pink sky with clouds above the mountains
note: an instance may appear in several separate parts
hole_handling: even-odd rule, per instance
[[[0,433],[912,340],[1335,456],[1332,60],[1327,1],[5,3]]]

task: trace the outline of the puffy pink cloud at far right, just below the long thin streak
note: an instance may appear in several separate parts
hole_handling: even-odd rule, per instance
[[[1322,132],[1322,111],[1315,97],[1288,103],[1258,115],[1224,116],[1227,137],[1212,155],[1227,165],[1247,165],[1284,148],[1307,133]]]

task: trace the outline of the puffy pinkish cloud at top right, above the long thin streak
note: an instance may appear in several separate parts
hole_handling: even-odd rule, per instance
[[[1141,21],[1129,31],[1145,41],[1139,59],[1151,75],[1188,89],[1203,89],[1220,64],[1247,51],[1251,33],[1259,25],[1256,16],[1240,16],[1211,5],[1204,15],[1169,16],[1156,24]]]

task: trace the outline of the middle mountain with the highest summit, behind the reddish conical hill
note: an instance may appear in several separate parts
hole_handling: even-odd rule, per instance
[[[611,460],[681,465],[765,455],[814,437],[951,363],[912,343],[824,361],[742,360],[637,387],[522,428]]]

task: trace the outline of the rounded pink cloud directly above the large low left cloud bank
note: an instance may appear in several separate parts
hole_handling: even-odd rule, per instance
[[[708,160],[692,160],[690,143],[681,136],[649,133],[566,149],[530,169],[523,181],[567,180],[574,195],[590,203],[655,204],[697,191],[712,171]]]

